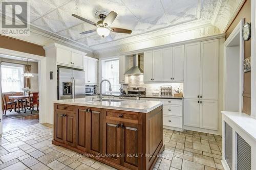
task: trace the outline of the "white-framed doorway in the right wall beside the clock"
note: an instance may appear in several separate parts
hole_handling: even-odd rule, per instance
[[[224,43],[224,110],[242,112],[243,110],[243,59],[244,41],[242,39],[243,20]]]

